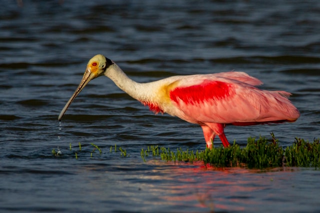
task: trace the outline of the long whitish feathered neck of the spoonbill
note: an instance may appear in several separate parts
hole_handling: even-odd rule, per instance
[[[117,87],[126,92],[132,98],[139,101],[144,100],[145,94],[143,94],[143,91],[146,90],[142,88],[143,84],[130,79],[115,63],[105,71],[104,75],[110,78]]]

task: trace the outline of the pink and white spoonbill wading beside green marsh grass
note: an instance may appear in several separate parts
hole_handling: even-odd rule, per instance
[[[224,135],[226,125],[294,122],[300,116],[288,100],[290,93],[258,89],[255,86],[262,82],[244,72],[172,76],[137,83],[113,61],[95,55],[89,60],[79,86],[60,112],[59,121],[84,86],[101,75],[109,77],[121,90],[147,105],[155,114],[168,113],[200,125],[210,149],[216,135],[224,147],[229,146]]]

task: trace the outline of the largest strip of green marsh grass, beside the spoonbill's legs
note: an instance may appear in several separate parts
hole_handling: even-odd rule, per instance
[[[319,167],[320,166],[320,144],[319,140],[312,143],[303,139],[295,138],[292,146],[285,149],[279,146],[278,140],[271,133],[271,140],[264,137],[248,138],[247,145],[240,148],[233,143],[233,146],[223,148],[222,146],[205,149],[204,151],[182,151],[158,146],[148,146],[141,150],[141,157],[145,158],[152,154],[159,156],[162,160],[173,162],[202,161],[205,165],[215,167],[247,167],[247,168],[274,168],[274,167]]]

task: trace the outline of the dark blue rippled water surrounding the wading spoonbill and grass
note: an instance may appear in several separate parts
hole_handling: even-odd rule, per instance
[[[262,80],[263,89],[291,92],[301,117],[228,126],[226,137],[240,146],[270,132],[282,146],[319,138],[320,2],[0,2],[1,212],[320,210],[314,169],[143,162],[147,145],[203,150],[201,129],[154,116],[105,77],[57,121],[87,61],[101,53],[139,82],[236,70]],[[101,155],[90,157],[90,143]],[[114,152],[115,144],[129,156]]]

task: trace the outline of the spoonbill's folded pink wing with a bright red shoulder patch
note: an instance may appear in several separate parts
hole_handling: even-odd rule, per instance
[[[183,113],[177,116],[192,123],[249,125],[299,117],[287,99],[290,93],[260,90],[252,84],[262,82],[245,73],[195,75],[178,81],[169,91],[170,99]]]

